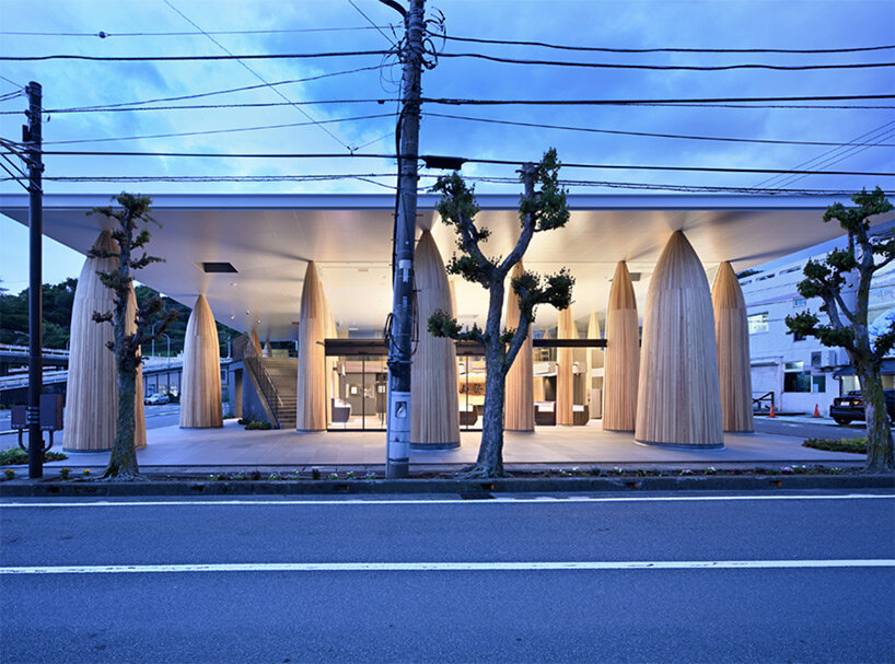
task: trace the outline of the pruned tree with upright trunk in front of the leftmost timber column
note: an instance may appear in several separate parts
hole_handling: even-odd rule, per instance
[[[108,467],[103,477],[119,479],[135,479],[139,476],[137,465],[137,450],[133,445],[135,409],[133,398],[137,392],[137,369],[142,361],[140,346],[162,336],[165,328],[177,317],[175,311],[164,311],[162,301],[152,296],[138,304],[133,295],[132,270],[139,270],[152,263],[163,261],[163,258],[150,256],[146,253],[146,245],[151,234],[147,228],[156,222],[149,215],[152,201],[148,196],[135,196],[121,193],[115,197],[121,206],[115,210],[112,207],[94,208],[88,214],[102,214],[113,222],[111,234],[118,243],[118,251],[93,251],[90,256],[95,258],[117,258],[118,266],[112,272],[96,272],[106,288],[115,294],[115,308],[111,312],[93,312],[93,319],[97,323],[109,323],[114,329],[109,349],[115,353],[115,366],[118,374],[118,413],[115,426],[115,443],[112,447]],[[140,257],[135,253],[142,251]],[[128,301],[133,298],[136,315],[128,321]],[[161,323],[156,325],[154,334],[149,330],[149,318],[161,315]],[[133,333],[129,333],[130,323],[135,324]]]

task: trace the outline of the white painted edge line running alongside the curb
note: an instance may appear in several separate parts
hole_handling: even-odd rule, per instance
[[[639,497],[596,497],[570,496],[556,498],[536,496],[531,498],[512,498],[496,496],[486,500],[464,500],[462,498],[383,500],[383,499],[346,499],[346,500],[160,500],[160,501],[111,501],[96,500],[89,502],[0,502],[0,510],[7,508],[158,508],[158,506],[229,506],[229,505],[306,505],[306,506],[347,506],[347,505],[488,505],[488,504],[526,504],[526,503],[582,503],[582,502],[717,502],[717,501],[756,501],[756,500],[893,500],[895,493],[846,493],[842,496],[639,496]]]

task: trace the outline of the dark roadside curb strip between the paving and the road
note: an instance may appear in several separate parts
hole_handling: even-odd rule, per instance
[[[13,480],[0,484],[0,498],[127,496],[334,496],[385,493],[458,493],[487,498],[491,493],[619,491],[767,491],[810,489],[895,489],[892,475],[774,475],[707,477],[571,477],[462,479],[339,480],[149,480],[66,481]]]

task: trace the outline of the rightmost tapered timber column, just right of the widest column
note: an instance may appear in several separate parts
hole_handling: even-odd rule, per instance
[[[752,374],[746,302],[733,267],[721,264],[711,289],[718,375],[721,383],[721,426],[724,431],[752,431]]]

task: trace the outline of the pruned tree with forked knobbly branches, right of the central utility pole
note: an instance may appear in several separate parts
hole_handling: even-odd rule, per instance
[[[528,248],[535,233],[562,228],[569,220],[566,190],[559,185],[560,163],[556,150],[550,149],[539,164],[525,164],[521,180],[524,194],[520,199],[519,218],[521,231],[515,246],[505,258],[488,257],[483,244],[489,231],[478,228],[475,215],[474,188],[457,173],[439,178],[433,187],[442,194],[438,211],[444,223],[457,235],[461,254],[451,258],[446,269],[466,281],[478,283],[489,293],[488,318],[485,329],[477,325],[464,328],[444,312],[435,312],[429,318],[429,331],[437,337],[480,341],[485,347],[485,413],[481,427],[481,444],[475,466],[467,469],[469,477],[500,477],[503,475],[503,401],[507,372],[515,360],[519,349],[528,336],[538,304],[551,304],[562,310],[569,306],[574,279],[563,268],[556,275],[542,277],[523,272],[512,280],[513,292],[519,296],[520,319],[515,329],[502,329],[501,318],[507,275]]]

